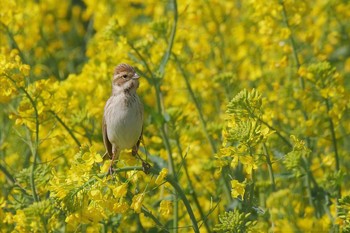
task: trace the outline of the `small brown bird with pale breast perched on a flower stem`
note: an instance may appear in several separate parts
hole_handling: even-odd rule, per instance
[[[137,155],[142,138],[143,105],[136,94],[139,75],[127,64],[120,64],[114,70],[112,95],[107,100],[103,114],[103,142],[112,159],[110,172],[120,151],[131,149]]]

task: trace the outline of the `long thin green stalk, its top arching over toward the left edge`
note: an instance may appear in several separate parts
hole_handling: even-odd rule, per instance
[[[29,93],[26,91],[26,89],[24,87],[18,86],[17,83],[15,82],[15,80],[13,80],[10,76],[8,76],[8,75],[5,75],[5,76],[14,83],[14,85],[16,86],[16,88],[18,90],[22,91],[25,94],[25,96],[29,99],[29,102],[31,103],[31,105],[33,106],[33,109],[34,109],[35,141],[34,141],[34,146],[31,147],[31,151],[32,151],[32,155],[33,155],[33,164],[31,167],[29,178],[30,178],[30,186],[31,186],[31,190],[32,190],[33,199],[35,202],[37,202],[37,201],[39,201],[39,198],[38,198],[38,194],[36,192],[36,187],[35,187],[34,172],[35,172],[36,162],[38,159],[38,146],[39,146],[39,113],[38,113],[38,109],[36,107],[35,101],[29,95]]]

